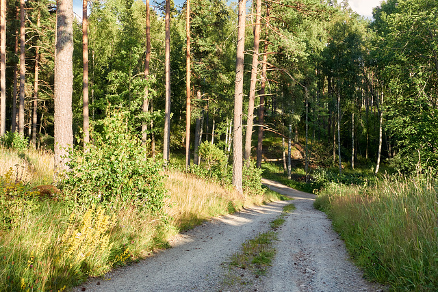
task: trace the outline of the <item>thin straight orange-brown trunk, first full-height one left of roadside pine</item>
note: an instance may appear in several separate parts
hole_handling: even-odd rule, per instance
[[[185,3],[185,38],[187,39],[187,50],[185,51],[185,170],[190,166],[190,0]]]

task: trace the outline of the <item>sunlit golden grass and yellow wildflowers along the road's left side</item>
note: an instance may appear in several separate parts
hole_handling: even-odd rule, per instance
[[[168,248],[172,235],[209,217],[285,200],[272,191],[242,196],[170,171],[164,178],[167,215],[123,200],[86,209],[63,194],[42,196],[35,190],[52,183],[52,161],[51,152],[0,148],[0,291],[64,291]]]

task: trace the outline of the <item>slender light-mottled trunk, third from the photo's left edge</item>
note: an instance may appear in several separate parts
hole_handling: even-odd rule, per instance
[[[20,106],[18,107],[18,133],[25,135],[25,0],[20,1]]]

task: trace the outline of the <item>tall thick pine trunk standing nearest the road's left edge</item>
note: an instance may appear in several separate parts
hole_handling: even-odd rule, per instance
[[[234,140],[233,140],[233,185],[240,194],[242,189],[243,155],[242,155],[242,106],[244,95],[244,51],[246,1],[239,0],[239,20],[237,24],[237,52],[235,64],[234,91]]]

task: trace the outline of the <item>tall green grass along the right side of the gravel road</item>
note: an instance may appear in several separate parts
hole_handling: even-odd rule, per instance
[[[432,174],[398,174],[368,187],[333,183],[315,207],[328,213],[368,278],[396,291],[437,291],[437,191]]]

